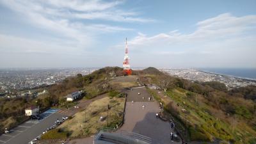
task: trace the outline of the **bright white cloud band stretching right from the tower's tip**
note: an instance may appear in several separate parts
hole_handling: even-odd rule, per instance
[[[172,47],[172,44],[202,44],[202,42],[213,42],[215,40],[224,41],[255,31],[256,15],[234,17],[230,13],[224,13],[217,17],[200,21],[196,26],[197,29],[190,34],[182,34],[179,30],[171,31],[170,33],[159,33],[154,36],[139,33],[129,44],[131,47],[152,44],[164,44],[166,45],[165,47]]]

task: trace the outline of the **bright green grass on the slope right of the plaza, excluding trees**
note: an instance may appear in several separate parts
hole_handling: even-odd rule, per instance
[[[187,116],[184,113],[179,113],[179,117],[182,121],[187,117],[191,140],[212,141],[214,140],[213,138],[218,138],[234,143],[241,143],[240,140],[252,143],[250,141],[253,141],[253,134],[243,132],[245,128],[249,131],[250,127],[237,125],[232,129],[231,125],[224,119],[216,118],[211,114],[211,109],[214,109],[212,106],[208,106],[204,102],[200,102],[200,100],[196,104],[195,94],[186,90],[180,90],[180,88],[168,91],[166,94],[180,104],[180,109],[188,111],[189,114]],[[243,107],[239,107],[236,110],[237,113],[241,113],[244,117],[251,118],[250,112],[246,111]]]

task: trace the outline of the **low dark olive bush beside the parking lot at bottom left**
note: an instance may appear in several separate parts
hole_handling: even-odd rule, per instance
[[[68,132],[63,132],[61,129],[52,129],[42,135],[42,140],[49,139],[65,139],[68,136]]]

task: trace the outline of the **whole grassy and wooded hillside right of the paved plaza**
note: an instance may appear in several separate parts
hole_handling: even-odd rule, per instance
[[[166,92],[161,93],[148,91],[164,103],[183,136],[186,127],[191,141],[256,143],[256,104],[244,99],[248,95],[255,97],[252,86],[227,91],[225,84],[218,82],[193,83],[167,75],[141,76],[140,79],[166,88]]]

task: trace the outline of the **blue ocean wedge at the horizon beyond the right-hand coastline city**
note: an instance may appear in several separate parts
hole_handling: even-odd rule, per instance
[[[256,79],[256,68],[198,68],[199,70],[234,77]]]

